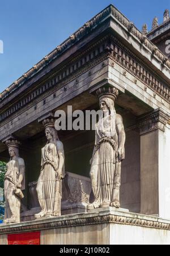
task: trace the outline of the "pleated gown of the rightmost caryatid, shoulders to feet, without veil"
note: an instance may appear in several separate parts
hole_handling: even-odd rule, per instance
[[[110,125],[104,127],[104,118],[96,124],[95,155],[91,165],[91,183],[95,196],[94,207],[113,202],[114,173],[118,146],[116,114],[110,116]]]

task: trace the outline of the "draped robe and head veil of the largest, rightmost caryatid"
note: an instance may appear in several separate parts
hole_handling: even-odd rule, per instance
[[[120,171],[121,161],[118,160],[118,125],[122,119],[116,114],[114,100],[105,96],[100,101],[105,102],[108,111],[100,117],[96,124],[95,148],[91,162],[91,184],[94,192],[95,208],[120,203]],[[124,159],[125,156],[122,156]],[[118,205],[117,204],[117,205]]]

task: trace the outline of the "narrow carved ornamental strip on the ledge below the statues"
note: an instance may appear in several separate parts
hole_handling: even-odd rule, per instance
[[[170,230],[170,224],[169,223],[163,223],[160,222],[159,219],[155,218],[154,220],[147,220],[146,216],[144,219],[139,219],[138,217],[130,217],[130,216],[121,216],[121,215],[104,215],[104,216],[91,216],[92,213],[90,213],[84,217],[80,217],[79,215],[76,215],[74,219],[53,219],[50,218],[50,220],[41,220],[39,221],[29,223],[23,223],[22,225],[12,224],[10,226],[1,226],[0,228],[0,234],[6,234],[6,233],[18,233],[18,232],[31,232],[36,230],[45,230],[45,229],[54,229],[54,228],[64,228],[64,227],[71,227],[71,226],[82,226],[82,225],[95,225],[95,224],[122,224],[122,225],[133,225],[133,226],[142,226],[145,228],[155,228],[155,229],[164,229],[164,230]]]

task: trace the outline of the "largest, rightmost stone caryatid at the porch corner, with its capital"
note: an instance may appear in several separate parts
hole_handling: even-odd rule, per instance
[[[91,158],[91,184],[94,202],[88,209],[120,207],[121,162],[125,158],[125,131],[114,101],[118,90],[102,87],[96,91],[103,116],[96,124],[95,148]]]

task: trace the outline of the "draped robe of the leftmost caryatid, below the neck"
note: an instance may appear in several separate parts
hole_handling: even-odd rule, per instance
[[[25,163],[22,158],[18,157],[15,158],[15,160],[10,160],[6,166],[7,171],[4,183],[5,219],[12,217],[16,222],[20,222],[20,198],[14,191],[16,189],[16,183],[18,183],[19,175],[22,172],[24,177]],[[23,178],[22,190],[24,190],[25,186],[24,181],[25,179]]]

